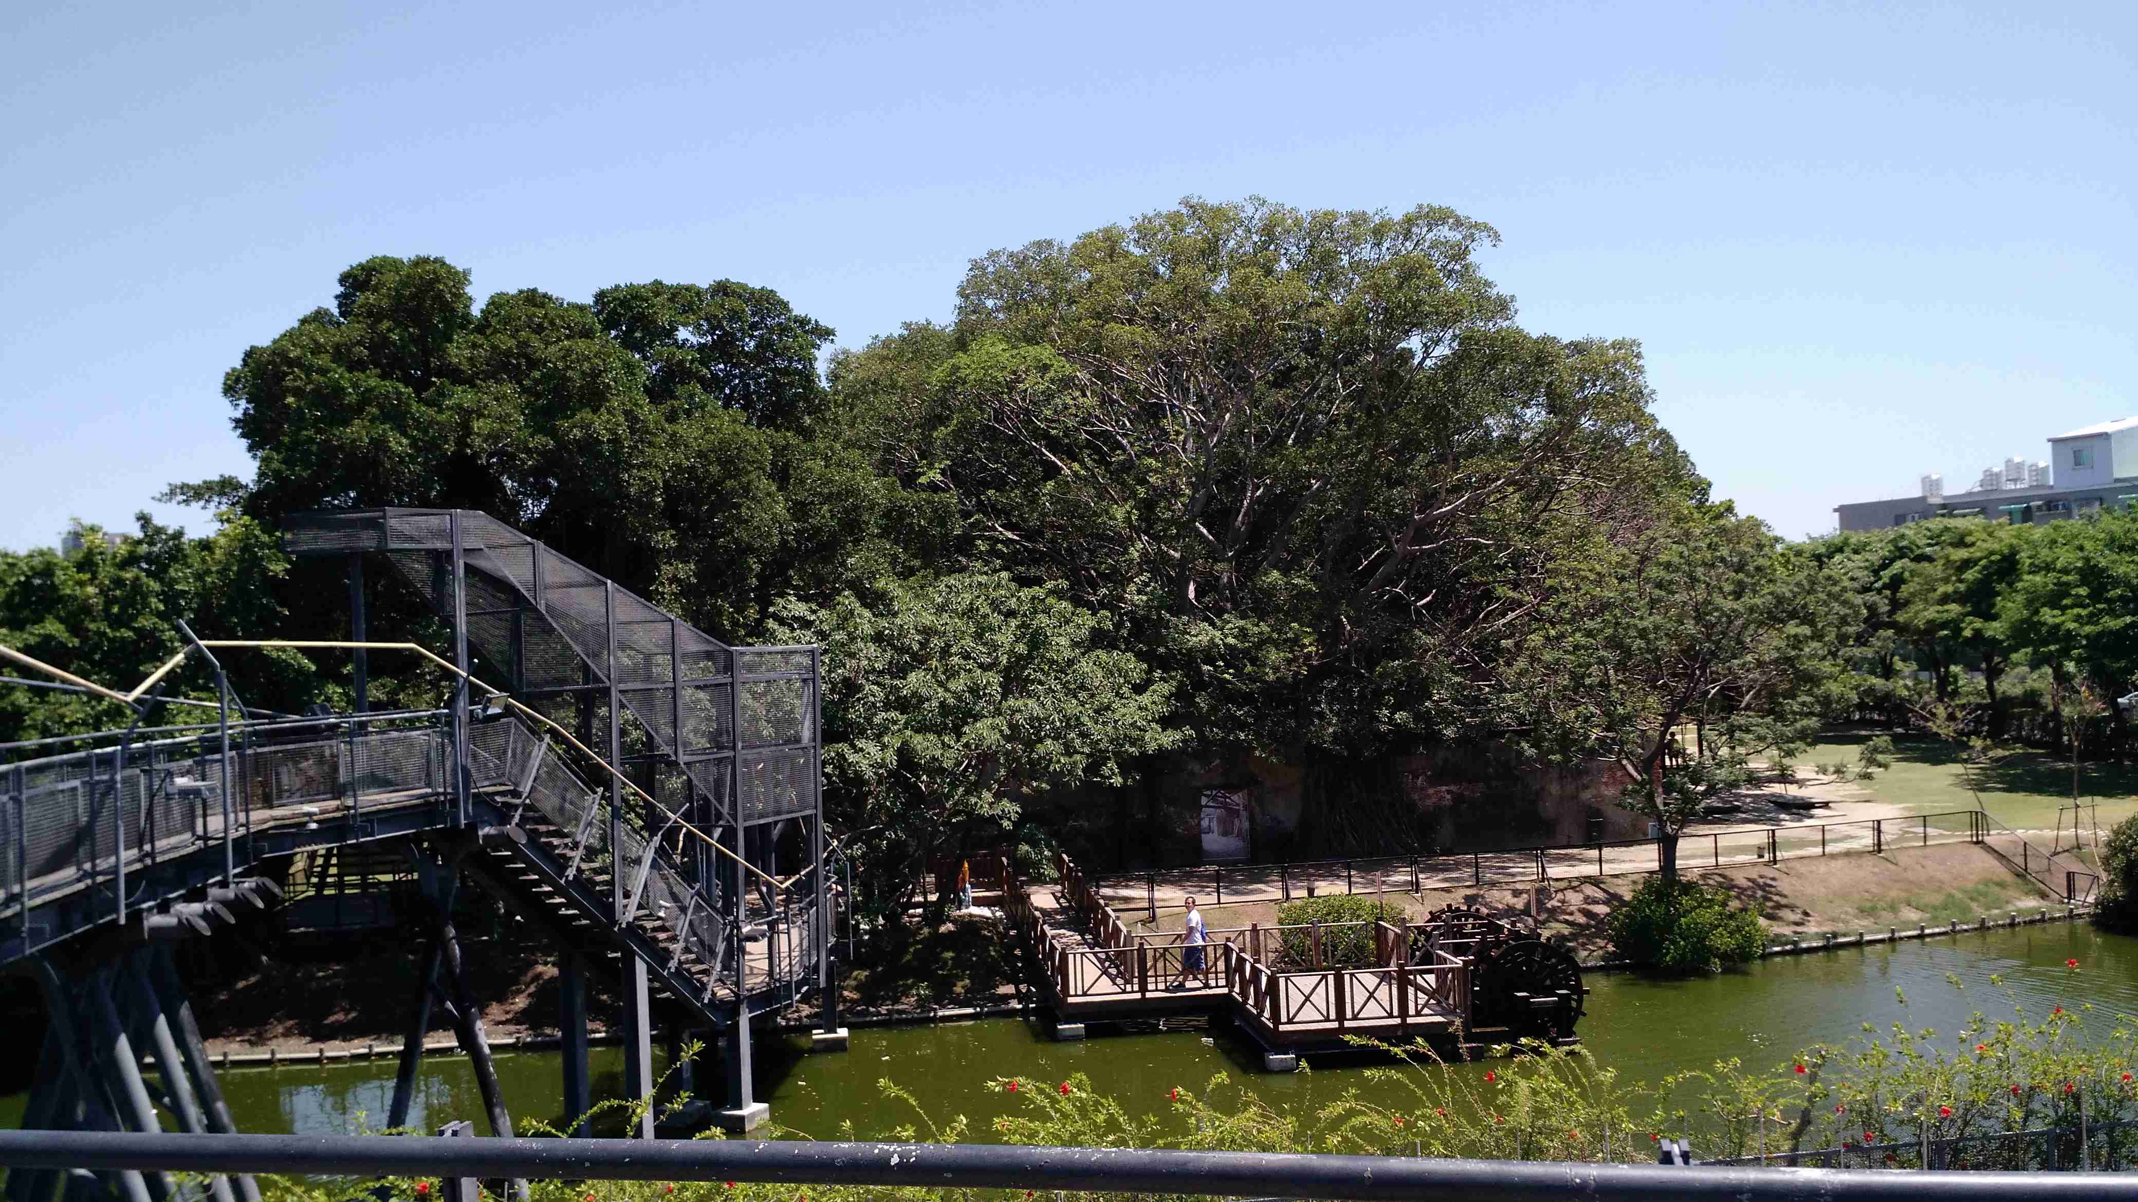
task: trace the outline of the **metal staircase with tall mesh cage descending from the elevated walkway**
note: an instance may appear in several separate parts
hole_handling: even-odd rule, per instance
[[[567,764],[532,723],[470,721],[466,776],[509,781],[507,819],[530,834],[485,851],[494,883],[549,890],[534,896],[629,943],[714,1022],[827,980],[815,648],[727,646],[485,513],[306,513],[284,545],[383,554],[479,680],[637,787]]]

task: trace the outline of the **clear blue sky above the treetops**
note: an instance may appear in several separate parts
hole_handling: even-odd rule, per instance
[[[0,11],[0,545],[248,473],[222,372],[336,272],[735,278],[862,344],[990,248],[1447,203],[1646,346],[1783,535],[2138,413],[2138,4]]]

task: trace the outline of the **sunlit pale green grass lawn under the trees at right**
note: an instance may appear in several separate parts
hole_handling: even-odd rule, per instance
[[[1856,764],[1856,753],[1869,738],[1873,736],[1830,731],[1800,755],[1796,766],[1809,770],[1813,764],[1837,759]],[[1892,742],[1892,768],[1864,781],[1864,789],[1875,800],[1918,815],[1976,808],[1976,798],[1961,779],[1952,744],[1926,736],[1894,736]],[[1982,808],[1997,821],[2016,830],[2055,830],[2057,806],[2072,804],[2072,766],[2065,759],[2027,751],[1976,770],[1976,787],[1982,791]],[[2082,764],[2078,791],[2082,800],[2100,804],[2102,834],[2108,834],[2110,826],[2138,813],[2138,768]]]

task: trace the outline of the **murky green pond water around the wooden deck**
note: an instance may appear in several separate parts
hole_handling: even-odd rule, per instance
[[[2078,971],[2065,967],[2072,958],[2080,962]],[[1965,990],[1954,990],[1948,975],[1958,977]],[[2003,984],[1990,984],[1993,975]],[[1976,1010],[1990,1018],[2010,1016],[2014,1001],[2031,1014],[2082,1003],[2138,1014],[2138,939],[2102,935],[2082,922],[2046,924],[1777,956],[1700,980],[1589,973],[1589,1014],[1580,1024],[1584,1044],[1623,1078],[1653,1082],[1723,1057],[1742,1057],[1749,1067],[1775,1065],[1804,1044],[1845,1042],[1858,1035],[1862,1022],[1886,1029],[1899,1020],[1909,1029],[1948,1033]],[[1896,988],[1907,997],[1905,1007],[1894,997]],[[2100,1027],[2106,1029],[2106,1022]],[[815,1057],[761,1044],[757,1097],[772,1104],[774,1123],[812,1138],[836,1138],[847,1123],[859,1136],[887,1136],[902,1125],[926,1134],[930,1119],[947,1123],[964,1114],[969,1138],[986,1140],[994,1116],[1016,1106],[1013,1097],[986,1089],[998,1076],[1058,1082],[1086,1074],[1097,1091],[1122,1099],[1133,1112],[1161,1112],[1169,1089],[1199,1091],[1219,1072],[1287,1108],[1311,1108],[1345,1089],[1385,1093],[1392,1104],[1405,1099],[1398,1084],[1366,1080],[1370,1063],[1385,1061],[1317,1057],[1308,1074],[1272,1076],[1259,1072],[1259,1054],[1244,1039],[1225,1031],[1095,1035],[1056,1044],[1033,1022],[998,1018],[862,1027],[853,1031],[847,1052]],[[597,1048],[592,1067],[597,1093],[603,1084],[616,1089],[622,1065],[614,1048]],[[500,1054],[498,1074],[515,1119],[556,1119],[560,1067],[554,1052]],[[926,1116],[885,1097],[881,1080],[909,1091]],[[708,1080],[708,1091],[712,1084]],[[229,1069],[222,1089],[239,1129],[340,1134],[385,1121],[393,1061]],[[21,1097],[0,1099],[0,1123],[19,1121],[19,1114]],[[464,1059],[425,1061],[413,1125],[481,1123],[481,1114]]]

